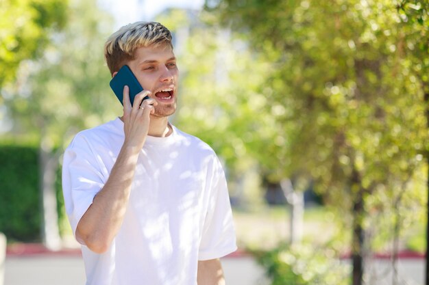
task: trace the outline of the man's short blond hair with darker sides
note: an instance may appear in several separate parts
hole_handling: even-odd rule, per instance
[[[146,46],[173,49],[169,29],[156,22],[136,22],[121,27],[104,44],[104,57],[110,73],[134,59],[136,49]]]

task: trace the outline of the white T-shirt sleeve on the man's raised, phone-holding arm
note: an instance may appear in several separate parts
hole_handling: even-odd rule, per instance
[[[64,204],[75,237],[77,223],[105,183],[98,165],[85,137],[77,134],[64,152],[62,163]]]

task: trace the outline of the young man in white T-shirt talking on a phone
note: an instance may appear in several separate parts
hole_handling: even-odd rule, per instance
[[[179,79],[170,31],[130,24],[104,53],[112,77],[126,64],[144,91],[131,105],[125,87],[123,116],[78,133],[64,154],[86,284],[224,284],[219,258],[236,250],[228,189],[215,152],[169,123]]]

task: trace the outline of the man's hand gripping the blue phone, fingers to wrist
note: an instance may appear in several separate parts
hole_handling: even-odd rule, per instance
[[[124,146],[136,148],[139,151],[143,148],[149,132],[150,114],[154,113],[154,106],[158,105],[158,103],[152,98],[143,100],[145,96],[151,94],[149,90],[145,90],[134,97],[132,106],[129,92],[128,86],[125,86],[123,89]]]

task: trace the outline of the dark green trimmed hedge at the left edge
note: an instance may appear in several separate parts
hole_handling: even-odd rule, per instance
[[[40,240],[38,152],[0,147],[0,232],[10,241]]]

